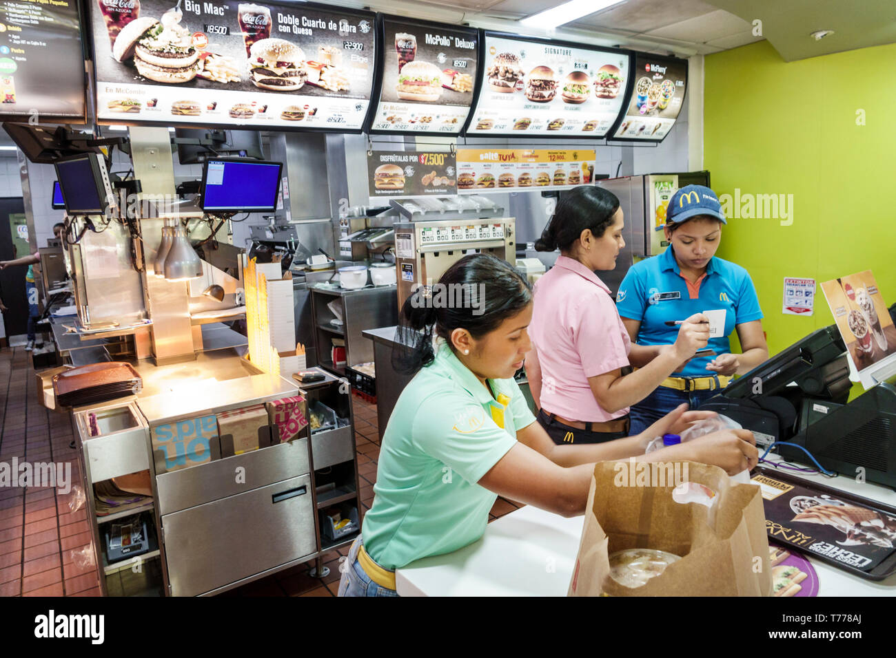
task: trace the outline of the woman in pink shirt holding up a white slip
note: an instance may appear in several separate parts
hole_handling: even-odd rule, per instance
[[[557,205],[539,252],[560,257],[535,285],[526,355],[538,423],[557,444],[600,443],[628,436],[628,407],[650,395],[697,350],[709,325],[696,314],[685,320],[674,345],[643,368],[624,374],[632,345],[609,288],[594,270],[616,268],[625,246],[619,200],[600,187],[582,186]]]

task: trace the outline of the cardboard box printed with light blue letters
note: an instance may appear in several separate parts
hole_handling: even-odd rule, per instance
[[[218,421],[214,415],[157,425],[150,433],[157,475],[220,459]]]

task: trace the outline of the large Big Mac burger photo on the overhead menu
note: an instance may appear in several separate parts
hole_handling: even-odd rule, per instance
[[[146,16],[122,28],[112,56],[118,62],[133,56],[137,73],[155,82],[189,82],[202,70],[189,30],[176,22],[163,25]]]

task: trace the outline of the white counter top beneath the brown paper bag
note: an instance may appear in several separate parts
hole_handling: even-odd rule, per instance
[[[802,477],[803,474],[800,474]],[[875,484],[812,475],[806,480],[896,506],[896,492]],[[395,575],[401,596],[565,596],[584,517],[564,518],[530,505],[488,524],[460,551],[413,562]],[[806,556],[820,596],[896,596],[896,574],[880,582]]]

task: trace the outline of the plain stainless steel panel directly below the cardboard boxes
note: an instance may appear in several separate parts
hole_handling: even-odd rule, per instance
[[[159,515],[235,496],[308,471],[308,440],[299,439],[163,473],[156,476]]]

